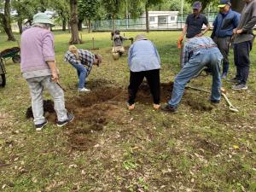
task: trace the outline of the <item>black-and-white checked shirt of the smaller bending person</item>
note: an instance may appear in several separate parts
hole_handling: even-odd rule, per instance
[[[83,65],[87,69],[87,75],[89,75],[95,61],[95,55],[84,49],[78,49],[78,51],[80,60],[78,60],[76,56],[68,50],[65,55],[65,61],[68,61],[71,64]]]

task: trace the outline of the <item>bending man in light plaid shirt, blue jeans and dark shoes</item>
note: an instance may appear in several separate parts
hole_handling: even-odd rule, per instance
[[[185,85],[203,67],[209,67],[212,71],[212,103],[218,103],[221,97],[220,64],[223,59],[217,44],[212,38],[191,38],[184,47],[183,68],[174,80],[172,99],[162,108],[166,112],[176,112],[177,105],[181,101]]]

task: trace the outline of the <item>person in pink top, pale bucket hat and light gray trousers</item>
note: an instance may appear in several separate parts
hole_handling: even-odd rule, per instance
[[[57,125],[63,126],[74,119],[72,113],[65,108],[64,92],[57,84],[58,69],[55,65],[54,37],[50,32],[53,22],[44,13],[33,16],[33,26],[22,32],[20,42],[20,68],[22,76],[30,89],[32,97],[32,113],[37,131],[44,128],[47,120],[44,118],[43,91],[49,94],[55,102]]]

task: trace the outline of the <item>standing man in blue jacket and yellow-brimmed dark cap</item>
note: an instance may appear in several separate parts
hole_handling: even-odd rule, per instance
[[[229,52],[233,29],[238,26],[240,14],[231,9],[230,0],[220,0],[218,4],[219,14],[213,22],[211,38],[218,45],[218,49],[224,56],[223,73],[221,78],[226,79],[229,71]]]

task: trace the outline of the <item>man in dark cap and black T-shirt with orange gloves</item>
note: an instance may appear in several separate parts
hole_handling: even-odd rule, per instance
[[[183,41],[183,37],[186,35],[186,38],[195,38],[203,36],[209,29],[210,24],[205,15],[201,14],[201,2],[193,3],[193,14],[188,15],[186,19],[185,26],[183,27],[183,33],[178,38],[178,42]],[[206,25],[207,28],[202,32],[201,28],[203,25]]]

